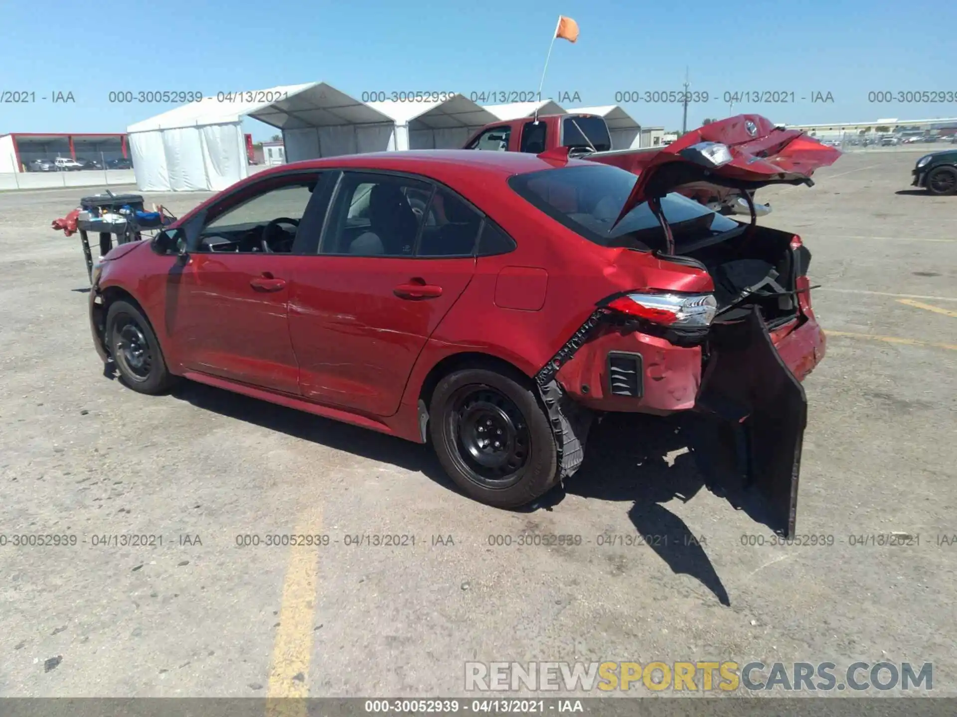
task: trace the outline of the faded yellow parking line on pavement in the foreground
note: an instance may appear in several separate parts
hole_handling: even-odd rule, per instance
[[[310,506],[300,515],[296,534],[315,535],[322,532],[322,525],[322,509],[318,505]],[[309,694],[319,550],[315,545],[295,545],[289,549],[266,695],[266,714],[271,717],[305,715],[305,701],[301,698]]]

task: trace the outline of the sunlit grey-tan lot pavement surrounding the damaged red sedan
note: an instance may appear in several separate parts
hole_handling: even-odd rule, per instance
[[[933,663],[954,693],[957,197],[910,190],[915,159],[848,154],[759,193],[812,250],[830,332],[798,510],[819,546],[769,545],[667,422],[607,421],[555,505],[507,512],[425,446],[196,384],[136,394],[103,377],[78,238],[49,228],[82,192],[0,195],[0,696],[461,695],[472,660],[704,659]],[[285,532],[331,542],[236,544]],[[920,543],[852,545],[890,532]],[[345,544],[382,533],[415,543]]]

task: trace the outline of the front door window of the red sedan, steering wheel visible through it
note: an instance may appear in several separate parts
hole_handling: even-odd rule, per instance
[[[198,251],[292,251],[316,178],[283,182],[213,216],[199,234]]]

